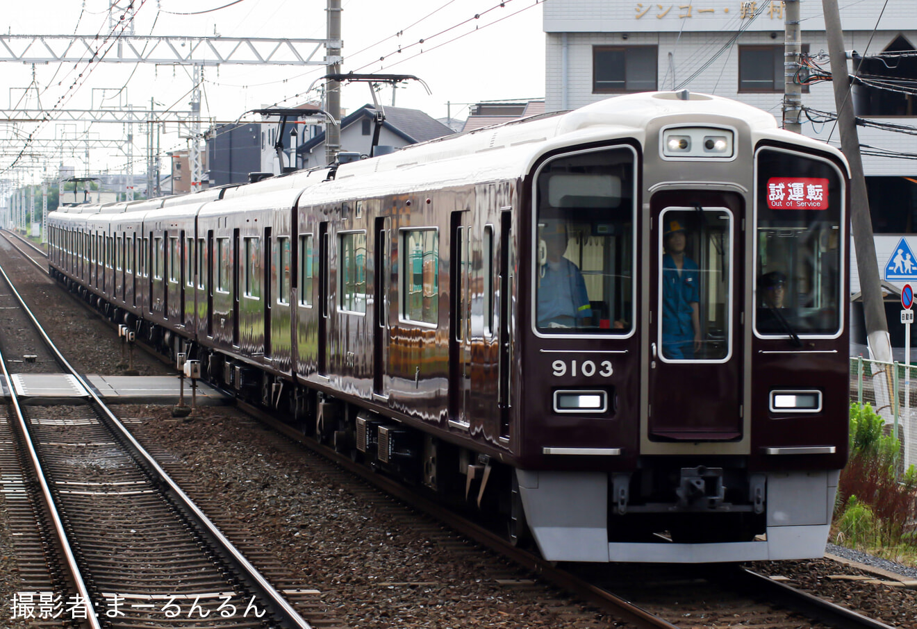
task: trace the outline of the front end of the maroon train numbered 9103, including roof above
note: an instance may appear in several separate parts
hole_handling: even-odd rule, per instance
[[[536,163],[520,217],[513,348],[542,554],[821,557],[847,449],[843,156],[702,94],[562,126],[577,142]]]

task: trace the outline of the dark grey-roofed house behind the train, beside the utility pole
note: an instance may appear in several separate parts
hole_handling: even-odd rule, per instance
[[[453,133],[446,125],[416,109],[385,107],[384,113],[385,121],[382,123],[379,146],[400,149],[409,144],[442,138]],[[341,120],[340,149],[369,155],[375,119],[376,110],[373,105],[363,105]],[[296,153],[299,168],[324,166],[325,132],[304,142],[296,149]]]

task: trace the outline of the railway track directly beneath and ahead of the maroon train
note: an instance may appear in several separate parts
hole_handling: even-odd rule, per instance
[[[302,441],[301,434],[282,425],[270,415],[260,413],[257,409],[247,408],[265,421],[288,436]],[[623,572],[630,576],[625,579],[612,579],[607,570],[596,573],[590,569],[564,570],[552,566],[538,557],[526,553],[518,548],[507,545],[499,535],[493,535],[480,526],[470,522],[458,522],[453,513],[445,512],[438,505],[429,503],[412,492],[406,491],[401,485],[393,483],[381,475],[369,473],[366,469],[353,465],[348,457],[335,455],[326,447],[315,447],[311,442],[305,441],[307,447],[318,449],[323,456],[336,458],[338,466],[348,468],[349,471],[373,482],[404,502],[409,502],[415,508],[421,509],[434,517],[447,522],[447,524],[463,535],[468,535],[484,546],[493,548],[504,557],[510,557],[519,565],[531,569],[564,590],[575,592],[580,598],[590,601],[591,604],[606,610],[613,615],[626,620],[628,623],[641,627],[676,627],[676,626],[724,626],[736,622],[736,617],[741,618],[744,625],[768,627],[796,627],[807,622],[805,619],[816,619],[811,626],[832,627],[886,627],[883,623],[864,618],[843,608],[837,608],[831,603],[814,599],[798,590],[781,588],[776,581],[767,579],[732,567],[725,571],[695,570],[685,576],[679,568],[664,568],[655,572],[641,572],[643,568],[615,567],[616,572]],[[162,454],[166,454],[163,452]],[[342,474],[337,468],[329,467],[326,474]],[[180,466],[170,464],[170,472],[181,476]],[[353,486],[352,481],[344,478],[336,480],[342,484]],[[337,478],[337,477],[336,477]],[[192,482],[188,478],[182,480]],[[370,491],[371,493],[371,491]],[[374,494],[367,494],[365,500],[378,500]],[[202,497],[204,498],[204,497]],[[218,509],[218,507],[208,507]],[[224,524],[221,523],[221,526]],[[431,526],[431,535],[435,535],[436,526]],[[236,535],[242,535],[238,532]],[[230,535],[233,536],[233,535]],[[636,574],[631,574],[637,570]],[[674,575],[674,576],[673,576]],[[277,577],[279,577],[278,575]],[[277,578],[275,577],[275,579]],[[512,581],[511,575],[503,575],[506,581]],[[500,579],[499,570],[491,575],[492,579]],[[516,579],[518,580],[518,579]],[[736,591],[736,585],[745,583],[742,591]],[[635,584],[639,584],[635,588]],[[521,587],[528,587],[526,583],[519,583]],[[534,586],[533,586],[534,587]],[[780,593],[770,593],[772,588],[780,588]],[[752,592],[751,594],[745,592]],[[767,595],[763,592],[768,592]],[[771,599],[773,601],[771,601]],[[713,602],[712,602],[713,601]],[[787,612],[780,606],[800,612]]]

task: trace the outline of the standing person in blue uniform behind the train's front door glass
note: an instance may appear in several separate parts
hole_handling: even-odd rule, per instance
[[[688,239],[678,221],[667,221],[662,256],[662,355],[693,359],[701,349],[701,271],[685,255]]]

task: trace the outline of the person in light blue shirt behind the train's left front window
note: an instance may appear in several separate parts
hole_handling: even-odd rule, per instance
[[[538,327],[590,326],[592,309],[580,268],[567,258],[567,226],[539,226]]]

